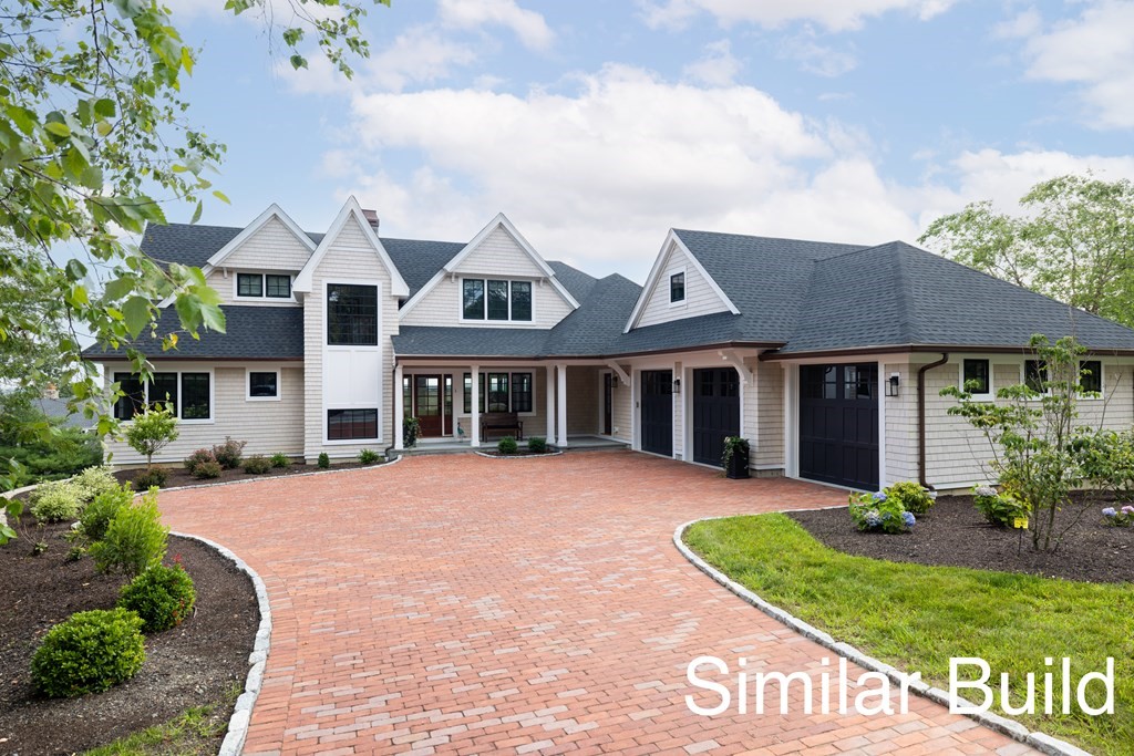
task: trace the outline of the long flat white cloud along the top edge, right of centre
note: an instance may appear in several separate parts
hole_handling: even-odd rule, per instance
[[[759,24],[767,28],[792,22],[814,22],[830,31],[855,29],[872,16],[892,10],[929,19],[945,12],[955,0],[638,0],[651,28],[680,28],[699,12],[721,25]]]

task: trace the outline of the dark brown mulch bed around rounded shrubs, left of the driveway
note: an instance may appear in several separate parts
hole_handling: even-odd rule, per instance
[[[37,532],[31,517],[22,523],[20,538],[0,547],[0,754],[82,753],[218,702],[229,702],[217,712],[228,720],[260,623],[245,574],[203,544],[170,537],[167,562],[179,560],[196,584],[193,617],[146,638],[145,664],[132,680],[101,694],[44,699],[29,673],[40,639],[74,612],[113,608],[126,578],[95,572],[90,557],[67,562],[68,524]],[[33,557],[37,540],[49,547]]]

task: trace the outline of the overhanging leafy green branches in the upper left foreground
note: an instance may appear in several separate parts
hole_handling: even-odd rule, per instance
[[[350,57],[369,54],[358,24],[367,0],[217,1],[261,14],[269,45],[287,49],[296,68],[312,42],[348,77]],[[146,223],[166,222],[163,204],[189,203],[196,222],[205,196],[227,202],[208,178],[225,147],[188,124],[180,95],[196,54],[154,0],[0,8],[0,368],[36,391],[52,372],[70,379],[100,435],[117,430],[116,397],[103,396],[79,359],[81,335],[118,347],[149,331],[164,350],[179,334],[225,329],[198,269],[147,260],[129,241]],[[104,272],[101,288],[93,266]],[[179,315],[176,332],[156,332],[164,298]],[[10,369],[28,355],[27,369]],[[145,355],[132,349],[129,358],[149,375]]]

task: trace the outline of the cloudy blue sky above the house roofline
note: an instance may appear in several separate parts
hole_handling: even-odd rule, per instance
[[[353,82],[169,5],[203,48],[192,121],[229,147],[206,223],[277,202],[322,231],[354,194],[383,235],[466,240],[503,212],[641,281],[670,227],[912,241],[1044,178],[1134,178],[1129,1],[393,0]]]

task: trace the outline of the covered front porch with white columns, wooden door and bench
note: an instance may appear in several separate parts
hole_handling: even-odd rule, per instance
[[[395,451],[405,451],[409,417],[422,452],[479,449],[505,435],[560,449],[629,444],[629,376],[617,365],[404,357],[393,373]]]

